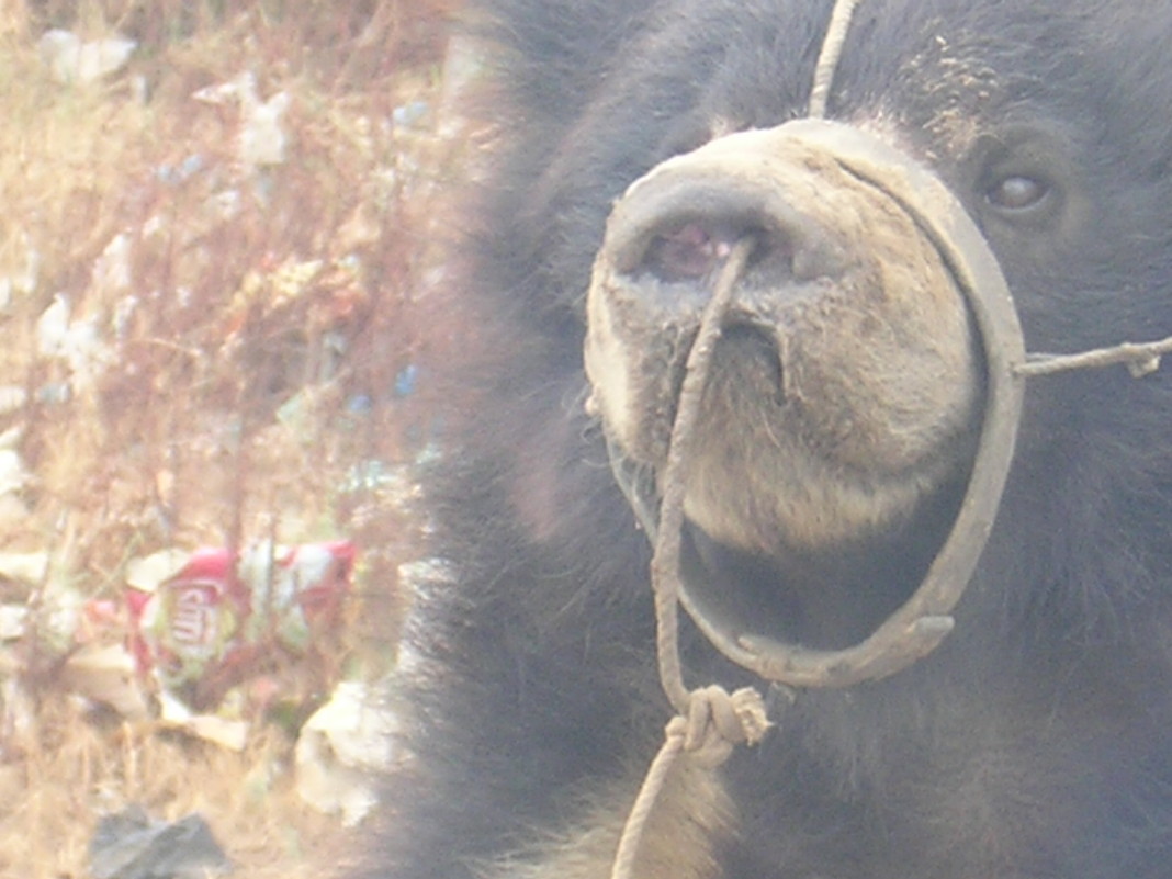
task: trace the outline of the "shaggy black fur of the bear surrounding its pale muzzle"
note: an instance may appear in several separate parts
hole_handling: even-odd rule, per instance
[[[647,536],[585,406],[592,264],[633,180],[805,115],[830,12],[829,0],[473,9],[504,143],[458,298],[479,347],[461,397],[471,410],[429,488],[454,582],[424,590],[407,627],[396,706],[409,758],[388,782],[377,874],[609,874],[672,709]],[[1158,339],[1172,334],[1170,46],[1172,7],[1154,0],[866,0],[827,116],[949,186],[997,255],[1029,350]],[[734,391],[737,417],[764,406]],[[738,496],[713,499],[720,473],[703,490],[730,522],[755,515]],[[775,584],[797,619],[822,614],[813,634],[790,634],[833,640],[836,608],[871,606],[863,590],[887,597],[872,614],[906,598],[939,544],[933,522],[955,512],[948,491],[926,522],[883,537],[878,560],[867,541],[811,551],[805,591]],[[742,579],[786,570],[762,551],[711,550]],[[834,588],[816,594],[818,577]],[[722,768],[680,764],[635,879],[1172,877],[1168,367],[1029,381],[955,620],[891,677],[772,700],[765,741]],[[690,628],[684,653],[693,683],[755,682]]]

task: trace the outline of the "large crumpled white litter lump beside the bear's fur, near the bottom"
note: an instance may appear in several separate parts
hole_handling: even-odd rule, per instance
[[[354,826],[379,802],[379,774],[394,756],[395,718],[370,688],[342,681],[301,728],[294,755],[298,795]]]

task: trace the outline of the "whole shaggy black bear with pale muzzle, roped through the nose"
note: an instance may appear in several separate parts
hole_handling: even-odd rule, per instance
[[[934,649],[831,668],[1000,488],[976,462],[1008,342],[969,287],[1003,278],[1031,353],[1172,334],[1172,7],[850,12],[471,11],[499,143],[456,297],[468,409],[429,486],[452,581],[407,626],[376,873],[611,874],[679,710],[648,533],[679,484],[684,679],[757,689],[770,725],[672,765],[631,877],[1172,877],[1167,368],[1010,376],[1004,492]]]

